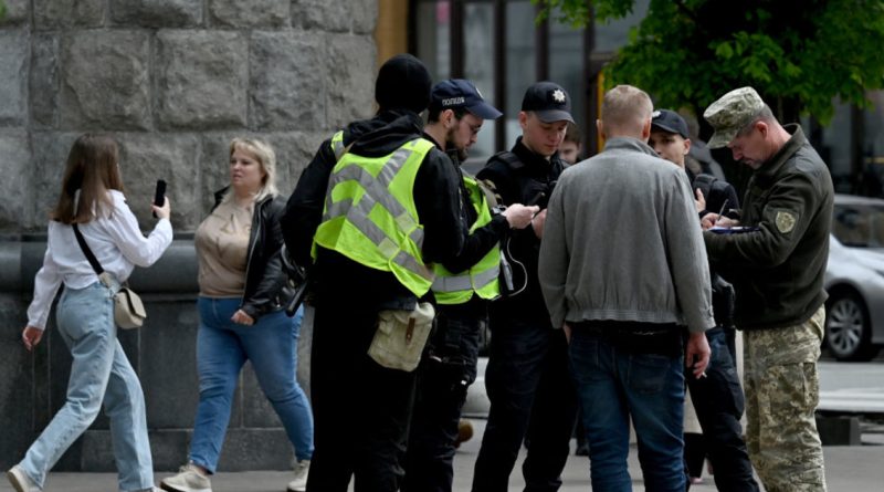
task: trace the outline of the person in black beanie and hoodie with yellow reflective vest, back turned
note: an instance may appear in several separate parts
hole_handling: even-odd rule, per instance
[[[392,492],[400,485],[414,373],[377,364],[369,345],[378,313],[414,310],[432,282],[430,263],[457,255],[466,235],[457,175],[445,154],[421,137],[419,114],[429,104],[430,88],[420,60],[388,60],[375,86],[378,113],[322,144],[282,219],[290,255],[309,269],[316,308],[311,356],[316,449],[307,490],[343,492],[350,477],[357,491]],[[335,170],[345,158],[350,168],[362,170],[369,168],[366,163],[385,164],[370,182],[346,180]],[[352,186],[360,191],[341,199]],[[365,197],[377,201],[371,213],[359,211]],[[389,210],[397,203],[408,211],[404,221],[402,216],[378,221],[379,214],[398,214]],[[341,217],[341,229],[350,229],[346,241],[338,235],[345,232],[328,227]],[[387,238],[376,245],[352,232],[366,228]],[[390,244],[400,254],[388,257]],[[419,253],[403,258],[414,250]],[[385,262],[381,268],[369,261],[377,259]]]

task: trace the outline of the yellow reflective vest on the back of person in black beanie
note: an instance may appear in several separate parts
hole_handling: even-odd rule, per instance
[[[423,226],[418,222],[413,188],[423,158],[433,148],[424,138],[407,142],[382,157],[346,151],[343,133],[332,138],[338,161],[332,170],[316,247],[392,273],[414,295],[430,290],[434,274],[423,263]],[[370,286],[366,286],[370,289]]]

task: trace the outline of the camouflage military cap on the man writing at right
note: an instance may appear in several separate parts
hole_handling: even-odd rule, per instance
[[[709,148],[727,146],[764,108],[765,102],[751,87],[736,88],[723,95],[703,112],[703,117],[715,129],[706,145]]]

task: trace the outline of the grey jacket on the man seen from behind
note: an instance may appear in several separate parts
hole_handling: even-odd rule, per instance
[[[581,321],[715,326],[687,176],[635,138],[567,168],[544,226],[540,287],[552,326]]]

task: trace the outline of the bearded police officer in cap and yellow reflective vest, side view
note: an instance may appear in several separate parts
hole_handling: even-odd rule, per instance
[[[516,203],[496,213],[486,198],[490,191],[461,172],[460,164],[484,121],[499,116],[470,81],[446,80],[433,86],[424,134],[448,151],[461,176],[461,213],[470,235],[461,254],[434,265],[436,326],[418,376],[402,491],[451,491],[459,420],[466,389],[476,378],[480,333],[488,301],[499,295],[498,244],[511,228],[527,227],[539,210]]]

